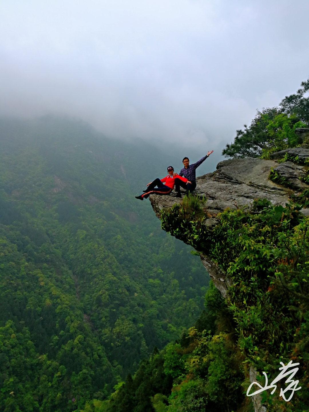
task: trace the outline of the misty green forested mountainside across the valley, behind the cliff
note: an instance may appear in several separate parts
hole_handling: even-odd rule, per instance
[[[81,410],[192,326],[209,277],[134,197],[171,158],[67,119],[0,131],[0,411]]]

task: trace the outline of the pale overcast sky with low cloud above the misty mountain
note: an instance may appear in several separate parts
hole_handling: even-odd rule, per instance
[[[1,0],[0,115],[222,150],[309,77],[305,0]]]

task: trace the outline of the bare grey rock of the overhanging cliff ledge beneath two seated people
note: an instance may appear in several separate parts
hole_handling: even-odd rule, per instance
[[[297,154],[299,155],[299,153]],[[309,156],[309,150],[303,149],[301,155],[305,156],[306,154]],[[282,154],[279,153],[278,157],[280,155]],[[197,178],[196,193],[207,199],[205,213],[208,218],[205,220],[205,224],[213,227],[218,222],[216,218],[218,213],[226,208],[236,209],[240,206],[250,206],[255,199],[267,199],[274,206],[284,207],[293,190],[269,180],[272,169],[293,183],[295,187],[309,187],[299,180],[307,168],[292,162],[278,164],[276,160],[255,158],[224,160],[218,163],[216,171]],[[162,209],[171,208],[174,204],[181,202],[181,199],[177,198],[174,192],[168,196],[153,194],[149,199],[158,217]],[[302,212],[307,215],[309,209],[302,209]],[[201,254],[201,261],[215,286],[225,297],[229,286],[228,277],[207,255]]]

